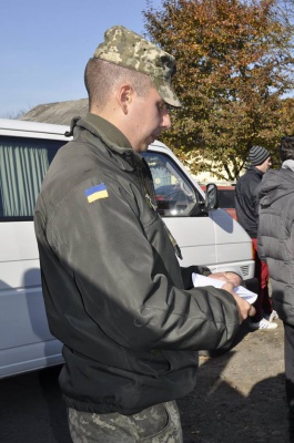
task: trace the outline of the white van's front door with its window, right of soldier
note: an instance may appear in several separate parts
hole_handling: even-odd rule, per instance
[[[189,176],[164,152],[149,150],[143,154],[149,164],[155,187],[159,214],[178,241],[183,259],[181,266],[216,262],[213,219],[206,212],[190,217],[203,195]]]

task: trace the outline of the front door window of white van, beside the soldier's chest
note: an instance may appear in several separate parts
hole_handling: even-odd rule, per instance
[[[152,151],[143,156],[152,174],[159,214],[164,217],[189,216],[202,199],[201,195],[170,157]]]

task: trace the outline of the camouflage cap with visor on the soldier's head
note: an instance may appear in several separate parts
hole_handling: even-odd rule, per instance
[[[174,58],[135,32],[121,25],[110,28],[93,58],[148,74],[168,104],[182,106],[171,84],[175,73]]]

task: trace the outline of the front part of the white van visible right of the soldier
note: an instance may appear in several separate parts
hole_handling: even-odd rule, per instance
[[[165,145],[154,143],[144,157],[158,210],[181,248],[180,265],[205,265],[213,272],[231,270],[244,280],[253,278],[252,240],[242,226],[223,209],[204,209],[201,188]]]

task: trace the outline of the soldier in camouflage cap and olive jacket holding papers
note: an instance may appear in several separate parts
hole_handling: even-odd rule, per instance
[[[73,119],[37,202],[74,443],[182,442],[175,400],[195,388],[197,351],[230,344],[255,312],[230,277],[222,289],[193,288],[156,212],[141,153],[171,126],[169,106],[181,106],[174,72],[170,54],[110,28],[85,68],[90,112]]]

